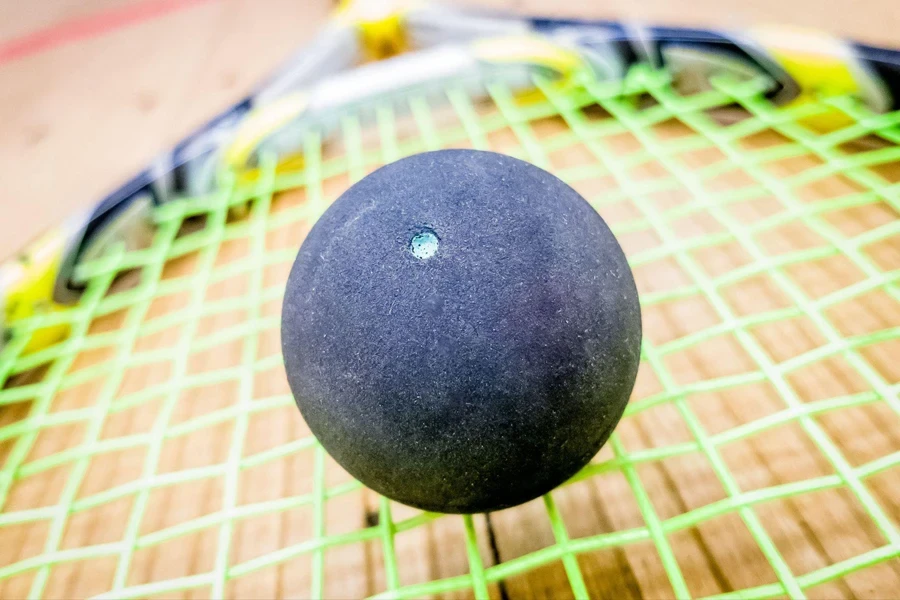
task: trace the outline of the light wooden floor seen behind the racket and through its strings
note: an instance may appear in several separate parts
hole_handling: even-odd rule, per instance
[[[135,5],[153,4],[159,14],[142,9],[134,14],[151,14],[144,21],[131,22],[115,30],[92,34],[80,39],[49,44],[31,54],[15,56],[0,63],[0,122],[8,124],[9,135],[0,138],[0,181],[4,182],[4,206],[16,218],[0,223],[0,255],[13,251],[28,237],[69,214],[77,207],[89,205],[98,194],[126,177],[157,151],[171,145],[192,127],[238,97],[285,57],[298,43],[307,39],[324,19],[328,7],[323,3],[270,1],[260,8],[250,0],[207,2],[46,2],[27,11],[13,3],[0,5],[0,35],[6,39],[22,39],[28,32],[53,28],[60,22],[84,23],[97,14],[115,13]],[[182,6],[182,4],[184,4]],[[495,2],[494,5],[509,3]],[[818,3],[786,3],[768,0],[749,3],[729,0],[713,2],[695,0],[678,3],[652,0],[599,6],[542,1],[520,2],[517,8],[541,7],[572,15],[638,18],[676,23],[742,25],[779,21],[798,25],[827,27],[847,35],[872,41],[900,45],[900,5],[894,2],[868,3],[864,13],[858,3],[844,2],[825,10]],[[24,4],[22,6],[25,6]],[[30,6],[30,5],[28,5]],[[689,9],[689,10],[688,10]],[[878,9],[878,10],[876,10]],[[130,17],[129,17],[130,18]],[[73,21],[74,20],[74,21]],[[119,21],[127,19],[120,17]],[[108,19],[117,22],[116,19]],[[82,29],[90,27],[82,26]],[[70,28],[71,29],[71,28]],[[77,28],[76,28],[77,29]],[[60,31],[64,29],[57,29]],[[71,34],[66,34],[71,35]],[[65,37],[63,35],[62,37]],[[892,40],[892,38],[894,38]],[[39,44],[38,44],[39,45]],[[2,56],[2,52],[0,52]],[[561,119],[548,119],[539,129],[544,135],[558,133],[564,127]],[[663,124],[654,130],[661,138],[684,135],[683,126]],[[639,140],[623,136],[611,142],[610,149],[622,155],[639,145]],[[777,136],[760,137],[754,144],[776,144]],[[520,141],[511,130],[493,135],[492,149],[521,151]],[[552,157],[555,167],[562,168],[584,161],[585,149],[575,145]],[[707,164],[715,157],[697,156],[688,168]],[[777,173],[789,176],[818,164],[811,156],[783,164]],[[658,176],[662,167],[647,164],[629,172],[635,181]],[[886,169],[891,181],[900,180],[900,169]],[[329,182],[326,195],[333,197],[346,179]],[[725,178],[721,184],[740,185],[739,179]],[[585,183],[579,188],[587,197],[603,190],[598,183]],[[609,184],[619,189],[622,182]],[[625,184],[627,185],[627,184]],[[577,187],[577,186],[576,186]],[[840,177],[829,177],[808,190],[804,201],[814,202],[853,191],[853,186]],[[625,190],[627,192],[627,189]],[[274,210],[288,210],[305,201],[301,192],[291,192],[277,199]],[[675,190],[654,200],[659,208],[671,208],[686,202],[685,190]],[[615,227],[633,218],[640,206],[627,202],[611,206],[604,217]],[[766,201],[749,203],[734,216],[753,223],[770,214]],[[843,215],[839,228],[848,237],[896,219],[884,206],[864,207]],[[668,233],[673,240],[713,233],[718,219],[702,215],[677,221]],[[295,247],[309,224],[293,223],[267,239],[267,248]],[[658,232],[633,232],[621,236],[629,256],[640,255],[672,240],[660,239]],[[762,239],[766,254],[777,256],[821,242],[819,236],[798,224],[772,232]],[[900,248],[881,244],[871,248],[871,255],[882,269],[900,265]],[[236,263],[251,253],[241,240],[224,244],[212,256],[216,264]],[[715,251],[692,253],[694,260],[711,277],[730,269],[758,262],[740,244],[718,247]],[[189,256],[168,265],[166,278],[193,276],[202,257]],[[288,264],[267,270],[267,281],[283,280]],[[642,295],[676,289],[691,283],[683,260],[666,257],[636,269]],[[792,279],[810,297],[820,297],[857,281],[860,274],[853,265],[836,257],[799,265]],[[270,282],[271,283],[271,282]],[[240,297],[250,289],[250,274],[229,278],[210,285],[197,296],[191,290],[154,301],[146,307],[146,319],[179,310],[198,298],[214,302],[222,298]],[[783,288],[770,278],[752,278],[721,292],[723,305],[737,316],[790,306]],[[270,302],[260,310],[263,316],[276,317],[279,304]],[[202,319],[193,335],[196,338],[239,325],[246,315],[212,315]],[[900,309],[886,294],[873,293],[841,304],[829,313],[841,335],[858,335],[895,327],[900,323]],[[114,330],[122,325],[123,315],[98,319],[93,333]],[[710,305],[701,295],[663,303],[644,313],[645,336],[659,347],[673,340],[714,327],[723,320],[721,307]],[[178,350],[183,332],[175,328],[159,335],[138,340],[129,351]],[[808,319],[785,319],[753,329],[752,343],[763,349],[774,363],[821,347],[826,342]],[[277,328],[259,336],[260,354],[277,353]],[[869,349],[865,360],[889,383],[900,381],[897,344]],[[115,349],[85,353],[72,369],[86,369],[115,359]],[[191,357],[187,373],[222,369],[231,361],[239,364],[243,356],[243,340],[224,344],[209,352]],[[757,367],[747,353],[746,345],[730,336],[715,337],[666,359],[666,367],[676,374],[679,385],[707,381]],[[132,393],[145,387],[161,385],[171,377],[170,368],[144,367],[129,371],[118,381],[119,393]],[[108,382],[99,380],[75,387],[55,401],[56,410],[90,408],[98,398],[108,395]],[[865,382],[843,360],[823,360],[801,369],[790,377],[789,384],[798,401],[815,402],[844,394],[864,391]],[[236,384],[226,382],[205,387],[202,394],[185,394],[171,415],[173,426],[193,423],[204,415],[225,410],[235,397]],[[633,402],[652,397],[661,383],[646,365],[639,376]],[[116,390],[113,390],[116,391]],[[286,393],[283,374],[261,378],[255,393],[258,398]],[[687,404],[697,415],[709,435],[755,422],[785,408],[785,401],[771,384],[749,382],[729,392],[699,392]],[[19,420],[27,414],[25,403],[4,407],[0,425]],[[125,438],[146,433],[158,417],[159,403],[149,403],[135,410],[110,417],[103,430],[104,439]],[[871,404],[817,420],[825,435],[853,465],[863,464],[900,449],[900,427],[896,413],[883,404]],[[189,427],[184,427],[186,430]],[[618,436],[628,451],[657,448],[690,442],[683,413],[674,403],[626,418],[618,428]],[[265,452],[279,444],[289,443],[308,433],[296,418],[296,409],[266,412],[248,424],[246,456]],[[210,466],[215,468],[229,451],[231,423],[206,427],[166,442],[161,450],[157,473],[162,476],[179,471]],[[80,426],[60,427],[42,434],[29,456],[40,461],[48,456],[75,448],[84,436]],[[0,445],[0,457],[8,446]],[[612,449],[604,449],[601,458],[610,458]],[[786,422],[766,433],[730,444],[723,450],[722,460],[735,475],[742,490],[770,488],[778,484],[830,475],[833,469],[808,430],[799,421]],[[127,485],[140,477],[144,466],[144,449],[126,449],[110,456],[98,456],[90,463],[78,498],[91,498],[103,490]],[[238,503],[253,504],[310,493],[314,461],[311,452],[271,462],[248,471],[241,479]],[[330,461],[327,464],[329,486],[347,481],[346,475]],[[707,506],[727,497],[719,478],[699,452],[648,463],[636,468],[646,493],[660,519]],[[222,507],[224,476],[199,480],[190,484],[160,485],[145,499],[148,516],[141,523],[140,534],[165,531],[179,523],[203,515],[215,514]],[[868,481],[875,500],[884,507],[896,525],[900,518],[900,477],[894,469]],[[47,469],[27,481],[16,484],[6,510],[24,510],[47,504],[48,498],[62,493],[68,481],[68,467]],[[569,527],[570,537],[584,537],[608,531],[642,527],[647,515],[638,510],[632,488],[622,472],[614,471],[571,485],[555,494],[559,509]],[[73,517],[62,540],[62,548],[103,544],[122,539],[131,511],[130,498],[104,505],[102,511],[87,510]],[[53,500],[50,500],[52,503]],[[336,498],[328,503],[328,534],[354,531],[372,519],[377,506],[374,495],[364,490]],[[395,506],[395,518],[402,519],[415,511]],[[773,544],[794,573],[807,573],[857,556],[884,544],[858,500],[845,489],[825,490],[797,499],[769,502],[757,509]],[[411,584],[465,574],[469,565],[465,554],[465,537],[458,518],[444,518],[429,527],[419,528],[397,537],[397,555],[402,569],[402,584]],[[481,555],[486,564],[506,562],[529,552],[554,544],[540,501],[503,511],[492,517],[491,531],[484,517],[476,520]],[[218,529],[209,527],[197,533],[139,550],[132,563],[127,583],[137,585],[150,581],[173,579],[202,573],[213,568]],[[308,510],[289,511],[241,522],[235,531],[232,564],[251,560],[278,548],[302,542],[313,535]],[[26,524],[0,529],[0,568],[43,551],[47,528],[43,524]],[[493,540],[492,540],[493,536]],[[741,589],[775,580],[770,559],[763,556],[759,544],[736,512],[698,527],[687,528],[669,536],[672,551],[693,595],[702,596]],[[493,546],[493,547],[492,547]],[[45,597],[82,597],[108,589],[116,567],[115,557],[54,569]],[[359,597],[382,591],[385,586],[383,556],[377,542],[356,544],[326,553],[326,587],[329,597]],[[629,545],[626,549],[600,550],[582,555],[581,569],[589,589],[598,597],[661,598],[670,597],[672,588],[664,572],[657,548],[650,541]],[[0,581],[0,597],[16,598],[27,594],[32,572]],[[286,562],[277,569],[262,570],[240,578],[227,589],[232,597],[302,596],[309,589],[311,568],[308,557]],[[527,575],[511,578],[503,586],[493,585],[493,597],[552,598],[570,594],[566,570],[559,561]],[[858,575],[820,586],[810,593],[818,598],[881,598],[900,590],[900,561],[885,563]],[[185,597],[205,597],[208,588],[199,588]],[[453,594],[449,595],[453,597]],[[461,592],[461,597],[468,597]]]

